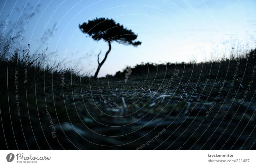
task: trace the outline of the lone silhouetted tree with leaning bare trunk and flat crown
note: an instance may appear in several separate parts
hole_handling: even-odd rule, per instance
[[[79,28],[83,33],[91,36],[93,40],[99,41],[100,39],[103,39],[104,41],[108,42],[109,49],[101,62],[99,62],[100,54],[98,55],[99,66],[96,70],[94,78],[97,78],[100,67],[108,57],[108,53],[111,50],[111,42],[116,41],[117,43],[133,45],[135,47],[141,44],[140,41],[134,41],[137,39],[138,35],[135,35],[132,30],[124,28],[123,25],[120,25],[119,23],[116,24],[113,19],[109,20],[105,18],[96,18],[94,20],[89,20],[88,23],[84,22],[82,25],[79,24]]]

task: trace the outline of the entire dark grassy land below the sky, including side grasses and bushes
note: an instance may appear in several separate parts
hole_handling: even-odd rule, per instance
[[[2,150],[256,149],[256,50],[140,64],[124,83],[125,70],[95,80],[50,63],[47,50],[31,55],[29,45],[8,42],[0,56]]]

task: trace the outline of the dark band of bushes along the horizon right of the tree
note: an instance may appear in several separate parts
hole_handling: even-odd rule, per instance
[[[231,56],[230,59],[219,59],[208,62],[189,62],[189,63],[141,63],[134,67],[126,67],[123,71],[118,71],[113,75],[106,75],[106,78],[122,80],[125,77],[126,69],[131,68],[132,79],[145,78],[168,78],[172,75],[173,69],[179,69],[183,77],[193,76],[193,79],[198,78],[228,78],[231,79],[236,71],[236,77],[247,77],[251,75],[251,70],[255,65],[256,49],[244,53],[242,56]],[[238,68],[238,69],[237,69]],[[141,72],[144,71],[144,72]],[[245,78],[244,78],[245,79]],[[248,79],[248,78],[246,78]]]

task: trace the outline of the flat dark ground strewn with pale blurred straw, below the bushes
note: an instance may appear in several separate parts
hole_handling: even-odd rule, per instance
[[[255,150],[250,76],[12,84],[1,90],[1,149]]]

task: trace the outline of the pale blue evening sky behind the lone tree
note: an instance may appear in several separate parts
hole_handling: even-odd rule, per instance
[[[0,4],[0,20],[8,20],[10,36],[22,31],[21,46],[30,43],[30,50],[39,52],[48,48],[52,63],[60,61],[81,73],[94,74],[98,53],[102,52],[101,60],[108,50],[108,43],[94,41],[78,28],[96,17],[112,18],[142,42],[138,47],[112,43],[99,76],[141,62],[202,62],[228,57],[232,47],[256,47],[254,0],[2,0]]]

